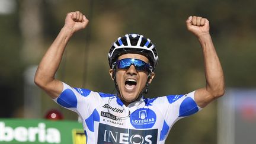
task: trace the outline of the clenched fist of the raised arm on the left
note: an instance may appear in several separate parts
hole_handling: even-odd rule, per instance
[[[85,15],[83,15],[81,12],[69,12],[66,15],[64,27],[70,28],[72,32],[75,33],[76,31],[84,29],[88,23],[89,20],[87,20]]]

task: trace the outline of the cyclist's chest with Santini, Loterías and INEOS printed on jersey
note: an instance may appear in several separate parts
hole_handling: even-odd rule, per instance
[[[164,118],[157,108],[121,108],[104,104],[97,108],[98,142],[156,143]]]

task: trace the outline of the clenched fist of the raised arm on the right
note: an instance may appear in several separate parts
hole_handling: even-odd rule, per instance
[[[197,37],[201,37],[205,34],[209,34],[210,25],[209,21],[206,18],[190,16],[187,21],[187,29],[191,31]]]

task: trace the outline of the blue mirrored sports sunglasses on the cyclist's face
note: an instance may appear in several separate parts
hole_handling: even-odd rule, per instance
[[[140,59],[121,59],[116,62],[117,68],[119,69],[129,69],[131,65],[135,66],[138,71],[152,72],[152,66],[149,63],[144,62]]]

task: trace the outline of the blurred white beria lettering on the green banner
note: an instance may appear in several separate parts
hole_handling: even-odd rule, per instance
[[[55,128],[47,128],[46,124],[39,123],[37,127],[12,127],[5,126],[0,122],[0,142],[39,142],[60,143],[60,132]]]

